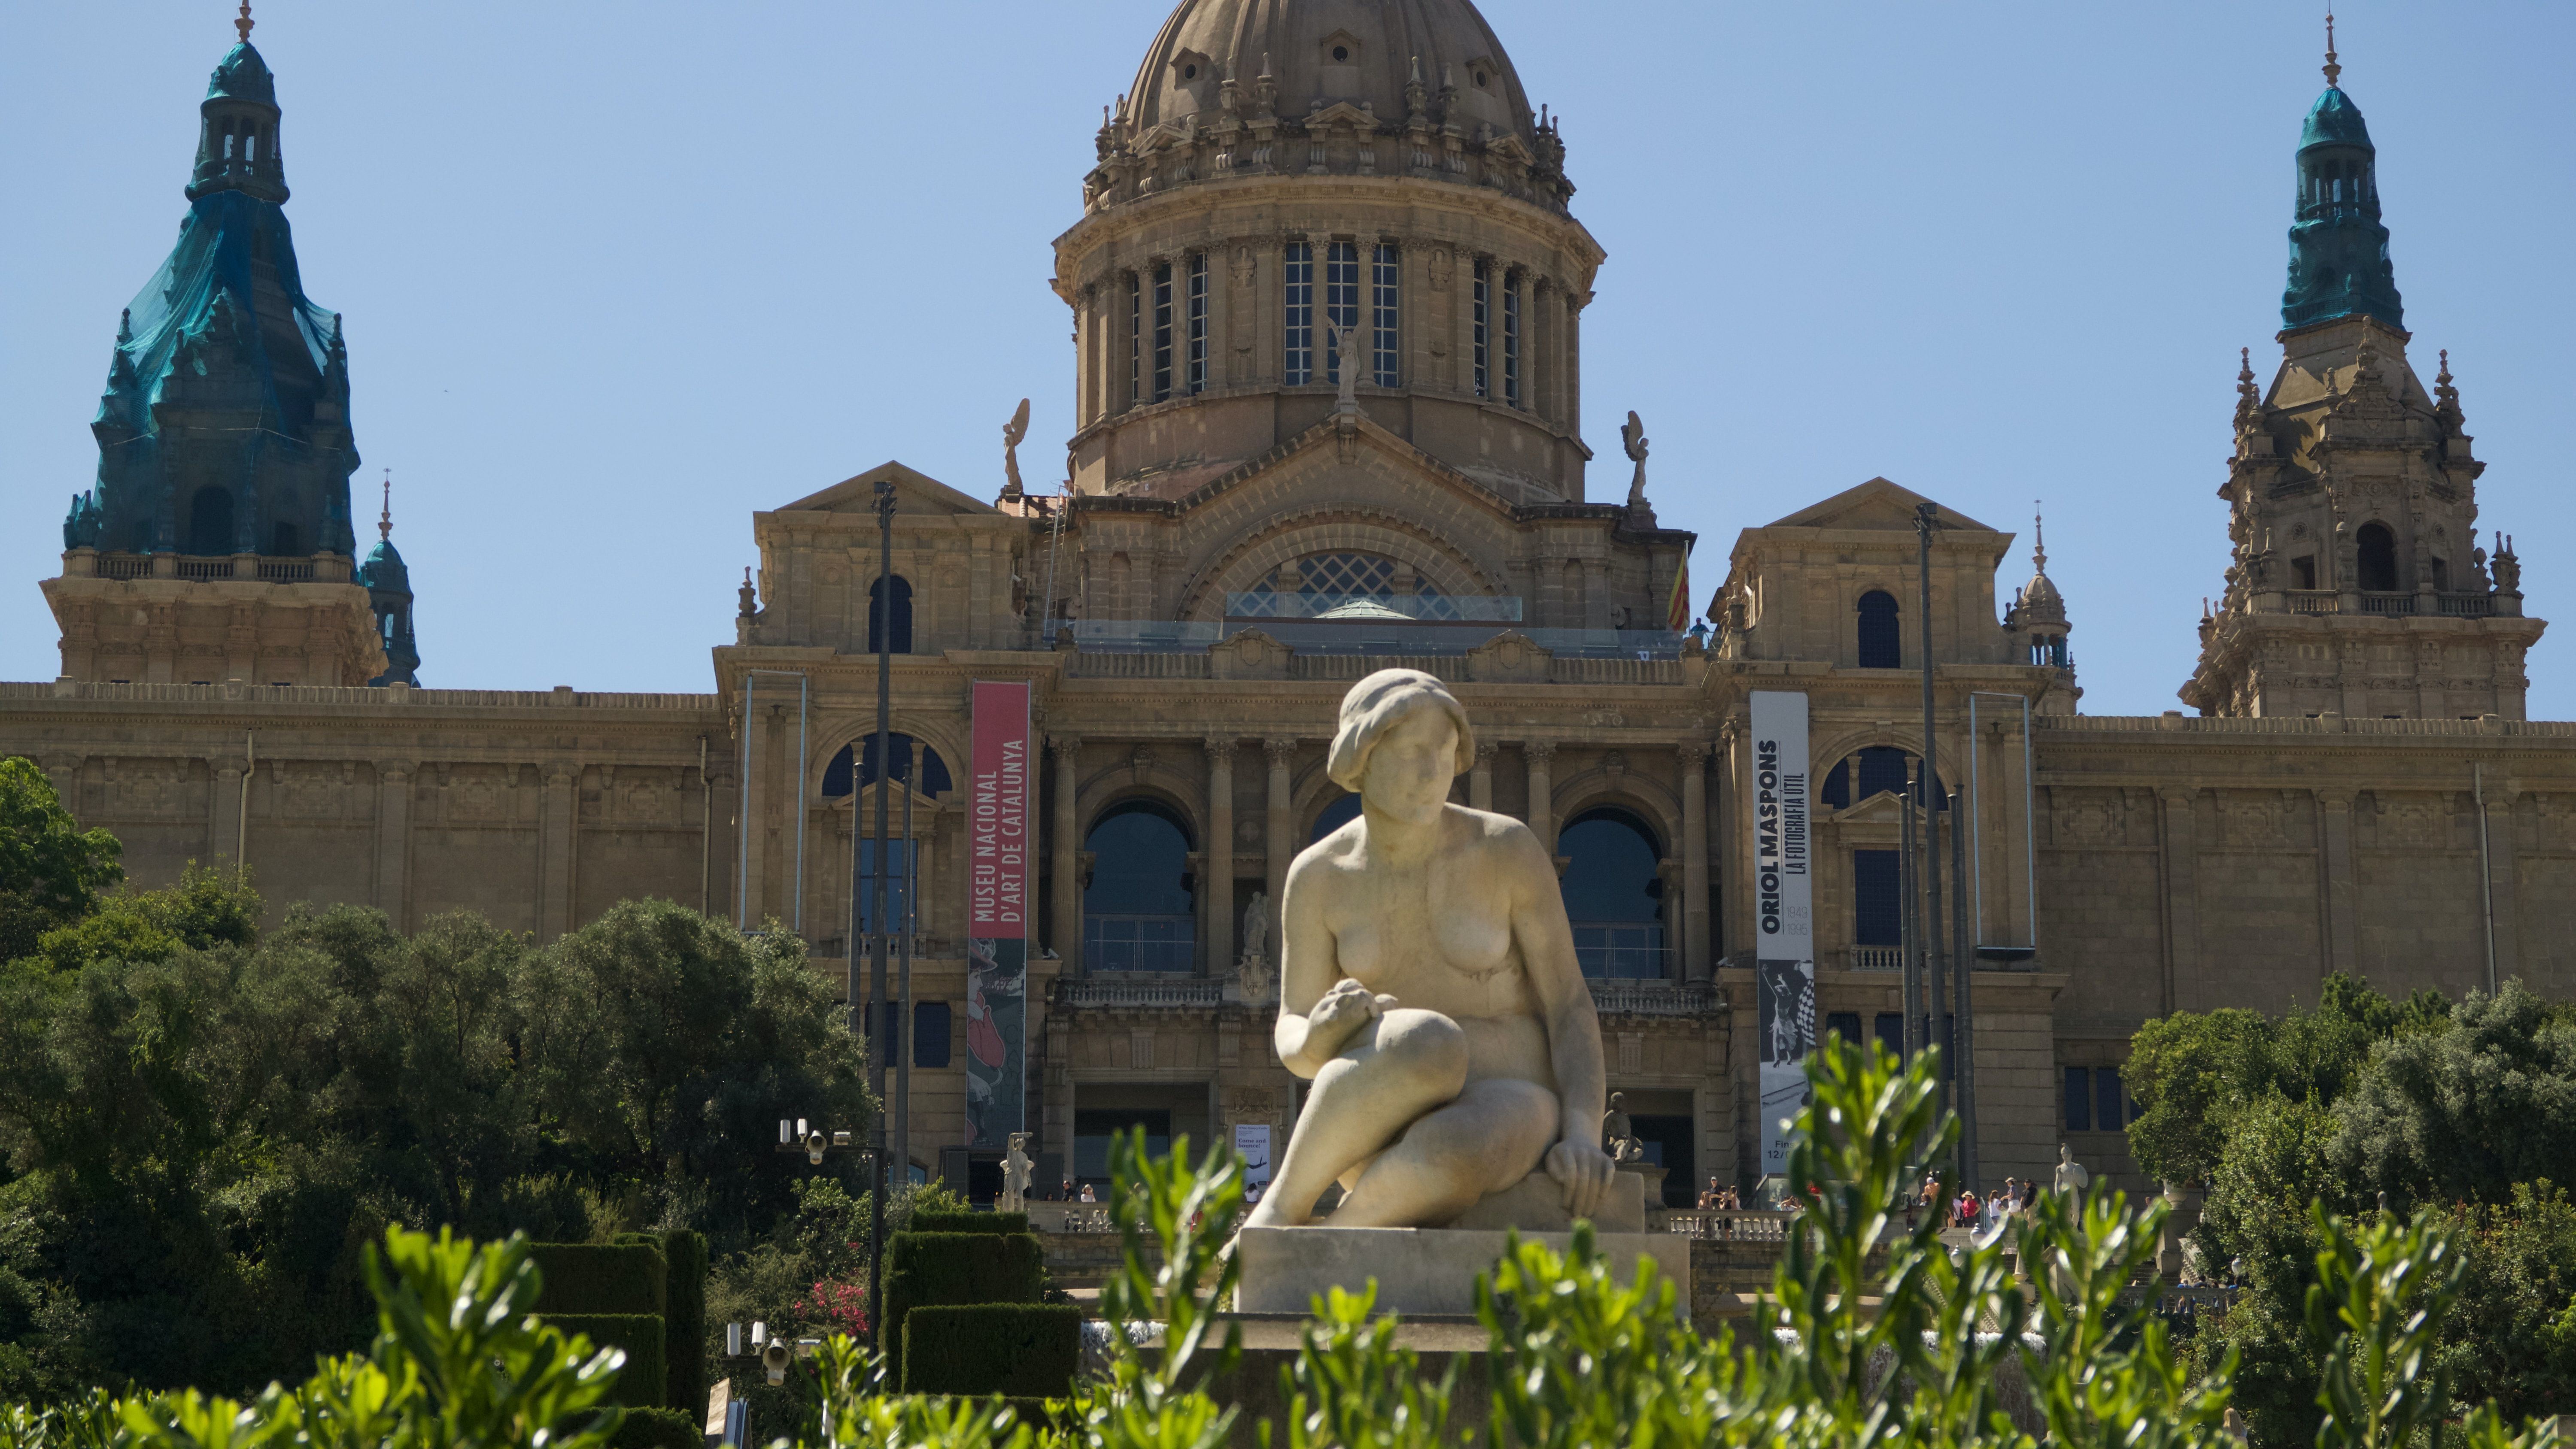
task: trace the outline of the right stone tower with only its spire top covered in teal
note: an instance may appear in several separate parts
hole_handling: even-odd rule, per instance
[[[2478,548],[2450,353],[2427,391],[2380,224],[2378,152],[2339,85],[2298,142],[2282,363],[2236,373],[2233,564],[2182,700],[2205,715],[2522,718],[2522,566]]]

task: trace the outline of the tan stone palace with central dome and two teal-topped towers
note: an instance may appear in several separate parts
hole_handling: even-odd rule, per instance
[[[1716,595],[1677,597],[1692,535],[1656,522],[1646,440],[1602,481],[1579,430],[1605,265],[1579,157],[1468,0],[1182,0],[1097,165],[1064,178],[1072,476],[781,481],[711,690],[592,695],[420,682],[389,507],[355,556],[350,347],[296,273],[245,26],[41,584],[62,674],[0,685],[0,752],[116,831],[142,883],[245,860],[273,906],[404,929],[474,909],[541,939],[665,896],[799,932],[835,978],[853,932],[909,932],[912,1166],[984,1181],[961,785],[971,685],[1025,682],[1043,1184],[1103,1179],[1136,1125],[1285,1140],[1280,883],[1358,808],[1324,775],[1342,692],[1427,669],[1476,723],[1458,800],[1556,852],[1610,1086],[1687,1202],[1757,1174],[1747,721],[1752,692],[1798,692],[1816,1029],[1904,1042],[1909,955],[1965,955],[1981,1176],[2038,1176],[2069,1143],[2141,1186],[2120,1063],[2151,1017],[2280,1011],[2334,970],[2576,988],[2576,723],[2522,718],[2543,623],[2512,548],[2481,548],[2460,391],[2447,358],[2429,389],[2409,358],[2331,51],[2326,80],[2295,144],[2282,355],[2269,381],[2246,360],[2215,481],[2233,564],[2192,713],[2081,713],[2076,607],[2038,535],[2025,577],[2012,533],[1940,507],[1924,535],[1929,499],[1888,479],[1747,520]],[[1692,613],[1710,628],[1682,631]],[[1929,821],[1906,806],[1927,651]],[[917,870],[894,921],[850,888],[881,795]]]

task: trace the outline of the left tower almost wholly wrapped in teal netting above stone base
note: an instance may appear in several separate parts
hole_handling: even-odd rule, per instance
[[[363,685],[384,672],[350,584],[348,347],[304,296],[268,62],[214,67],[188,219],[116,327],[98,481],[44,592],[77,679]]]

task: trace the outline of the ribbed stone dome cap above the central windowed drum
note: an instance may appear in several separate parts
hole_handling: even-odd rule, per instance
[[[1154,36],[1128,90],[1136,129],[1216,121],[1224,85],[1242,103],[1270,75],[1280,116],[1334,103],[1406,116],[1406,88],[1422,85],[1443,124],[1476,136],[1533,139],[1530,98],[1502,41],[1468,0],[1182,0]]]

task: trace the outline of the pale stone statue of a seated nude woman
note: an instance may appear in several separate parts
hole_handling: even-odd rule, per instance
[[[1342,697],[1327,770],[1360,816],[1296,857],[1280,909],[1273,1040],[1314,1089],[1249,1228],[1309,1223],[1332,1181],[1334,1228],[1437,1228],[1540,1166],[1577,1217],[1610,1186],[1556,865],[1525,824],[1448,803],[1473,759],[1430,674]]]

